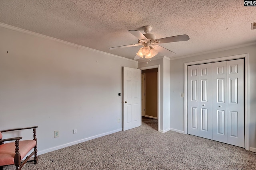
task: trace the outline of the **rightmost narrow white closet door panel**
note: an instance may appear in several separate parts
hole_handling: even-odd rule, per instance
[[[244,59],[227,61],[228,144],[244,144]]]

